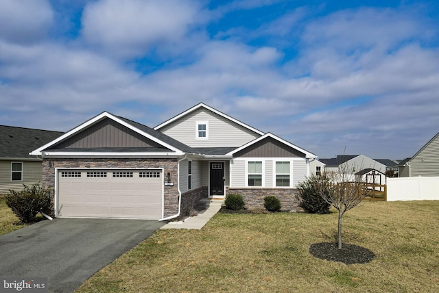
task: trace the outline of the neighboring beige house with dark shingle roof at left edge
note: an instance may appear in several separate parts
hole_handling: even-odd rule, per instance
[[[22,190],[42,179],[42,160],[29,152],[62,132],[0,125],[0,194]]]

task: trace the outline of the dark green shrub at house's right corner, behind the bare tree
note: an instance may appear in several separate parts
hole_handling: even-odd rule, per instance
[[[298,184],[299,207],[302,207],[302,209],[305,209],[305,212],[311,214],[328,214],[331,205],[324,201],[322,196],[317,194],[316,183],[318,180],[325,180],[325,178],[311,175],[307,180]],[[329,190],[325,192],[329,192]]]

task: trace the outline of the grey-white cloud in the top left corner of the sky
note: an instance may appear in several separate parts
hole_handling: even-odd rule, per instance
[[[29,44],[45,38],[54,12],[46,0],[2,0],[0,39]]]

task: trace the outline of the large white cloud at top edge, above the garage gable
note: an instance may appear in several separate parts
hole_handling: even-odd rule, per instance
[[[84,8],[82,35],[112,55],[138,57],[163,42],[179,42],[198,12],[196,1],[102,0]]]

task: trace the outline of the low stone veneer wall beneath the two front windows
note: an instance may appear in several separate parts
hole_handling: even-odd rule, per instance
[[[298,206],[298,190],[285,188],[227,188],[226,194],[241,194],[246,203],[246,208],[264,208],[263,198],[265,196],[276,196],[281,201],[282,211],[302,212]]]

